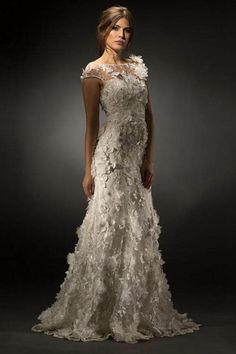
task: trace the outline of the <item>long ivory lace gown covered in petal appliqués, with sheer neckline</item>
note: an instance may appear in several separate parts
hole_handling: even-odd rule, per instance
[[[90,62],[81,80],[101,80],[100,127],[92,158],[95,191],[77,227],[78,242],[67,255],[68,270],[55,302],[32,330],[74,341],[136,343],[154,336],[199,330],[201,324],[173,306],[159,249],[159,216],[151,188],[141,180],[147,143],[148,69],[132,62]]]

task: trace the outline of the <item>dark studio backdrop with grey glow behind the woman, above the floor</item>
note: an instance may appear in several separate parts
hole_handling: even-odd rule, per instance
[[[149,69],[153,203],[173,295],[235,290],[235,2],[11,1],[1,6],[4,306],[21,296],[41,311],[65,276],[87,205],[80,75],[99,57],[96,26],[111,5],[133,13],[132,52]]]

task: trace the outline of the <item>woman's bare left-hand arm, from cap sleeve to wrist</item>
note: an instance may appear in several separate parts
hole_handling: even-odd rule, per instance
[[[88,77],[82,81],[82,92],[86,114],[85,173],[91,174],[91,161],[99,130],[100,80]]]

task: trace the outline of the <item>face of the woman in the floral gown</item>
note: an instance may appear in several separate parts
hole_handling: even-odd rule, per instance
[[[116,52],[123,51],[130,40],[131,28],[129,21],[122,17],[112,27],[106,38],[106,47],[109,47]]]

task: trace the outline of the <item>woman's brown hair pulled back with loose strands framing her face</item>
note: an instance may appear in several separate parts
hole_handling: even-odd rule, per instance
[[[97,42],[99,55],[102,55],[105,50],[106,36],[111,31],[114,24],[122,17],[125,17],[128,20],[129,26],[131,27],[130,40],[126,50],[129,49],[134,33],[134,17],[132,13],[127,9],[127,7],[111,6],[103,10],[100,16],[99,24],[97,26]]]

